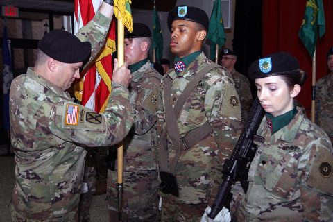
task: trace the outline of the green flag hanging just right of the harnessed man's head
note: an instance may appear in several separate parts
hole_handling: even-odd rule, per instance
[[[221,49],[225,43],[224,24],[221,14],[221,1],[215,0],[210,15],[210,27],[208,28],[207,38],[210,40],[210,58],[214,60],[216,44]]]

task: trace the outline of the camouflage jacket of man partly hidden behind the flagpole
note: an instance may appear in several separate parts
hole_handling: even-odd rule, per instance
[[[149,61],[132,75],[130,104],[134,124],[124,139],[123,171],[156,170],[156,111],[162,76]]]

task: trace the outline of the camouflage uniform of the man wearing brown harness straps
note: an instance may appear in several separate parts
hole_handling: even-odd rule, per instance
[[[157,135],[167,128],[165,103],[174,105],[182,90],[194,78],[194,71],[200,71],[212,63],[204,53],[182,72],[174,69],[162,79],[163,107],[157,110]],[[164,101],[164,79],[170,76],[171,101]],[[240,127],[241,110],[239,98],[229,72],[223,67],[209,71],[196,86],[182,108],[177,121],[180,137],[197,128],[206,121],[210,123],[212,133],[186,151],[180,151],[176,167],[179,198],[171,194],[162,196],[162,221],[200,221],[207,207],[214,201],[221,184],[221,168],[225,158],[232,153],[237,142]],[[157,141],[159,137],[157,137]],[[168,138],[168,159],[175,156],[176,148]],[[167,158],[161,157],[160,158]]]

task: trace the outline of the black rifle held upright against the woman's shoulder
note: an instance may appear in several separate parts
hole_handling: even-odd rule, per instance
[[[208,214],[211,219],[214,219],[223,207],[229,208],[230,191],[234,182],[239,180],[246,193],[248,189],[248,169],[257,151],[257,145],[253,144],[253,137],[257,133],[264,113],[259,100],[255,99],[244,131],[237,140],[230,159],[225,160],[223,164],[223,182],[219,187],[219,193],[214,200],[212,210]]]

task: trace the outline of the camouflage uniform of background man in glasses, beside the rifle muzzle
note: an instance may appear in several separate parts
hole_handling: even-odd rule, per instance
[[[245,125],[248,119],[248,114],[253,105],[253,98],[250,89],[250,81],[246,76],[240,74],[235,69],[230,72],[232,78],[234,79],[234,86],[239,96],[239,101],[241,101],[241,122]]]

